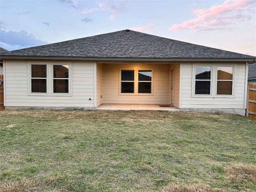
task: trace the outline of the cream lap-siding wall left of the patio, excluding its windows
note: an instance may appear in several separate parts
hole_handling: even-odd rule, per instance
[[[33,62],[36,63],[40,61]],[[66,61],[57,62],[61,63]],[[72,66],[70,71],[71,95],[46,94],[37,96],[29,94],[30,80],[28,61],[6,60],[4,71],[4,106],[94,108],[94,63],[82,61],[72,61],[70,63]]]

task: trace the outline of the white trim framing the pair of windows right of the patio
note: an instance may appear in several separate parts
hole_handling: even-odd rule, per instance
[[[211,87],[210,95],[195,94],[195,82],[196,82],[196,66],[211,66]],[[217,68],[218,67],[233,67],[233,84],[232,95],[217,95]],[[193,63],[192,64],[192,94],[194,98],[235,98],[235,85],[236,85],[236,64],[209,64],[209,63]]]

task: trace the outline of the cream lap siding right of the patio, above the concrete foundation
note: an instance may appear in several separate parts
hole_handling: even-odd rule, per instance
[[[222,63],[223,64],[223,63]],[[231,65],[231,63],[229,63]],[[234,64],[235,65],[235,64]],[[234,80],[234,97],[192,97],[192,63],[182,64],[182,104],[180,108],[244,108],[245,64],[236,64]],[[212,80],[216,84],[216,80]],[[214,86],[215,87],[215,86]]]

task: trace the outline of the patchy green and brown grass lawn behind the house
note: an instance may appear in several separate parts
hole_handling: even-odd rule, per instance
[[[253,192],[256,121],[234,114],[0,112],[0,192]]]

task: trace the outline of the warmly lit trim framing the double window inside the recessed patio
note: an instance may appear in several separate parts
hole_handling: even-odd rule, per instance
[[[134,93],[121,93],[121,70],[134,70]],[[138,84],[139,81],[138,80],[138,72],[139,70],[151,70],[152,71],[152,77],[151,77],[151,93],[138,93]],[[154,95],[154,68],[119,68],[119,95],[147,95],[147,96],[153,96]],[[132,82],[132,81],[131,81]],[[145,82],[149,82],[149,81],[145,81]]]

